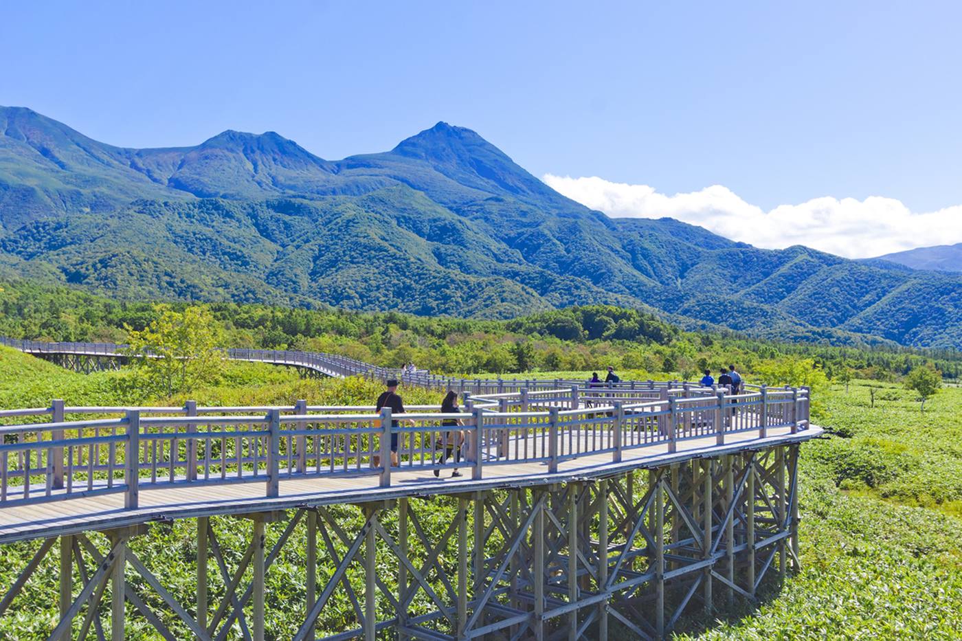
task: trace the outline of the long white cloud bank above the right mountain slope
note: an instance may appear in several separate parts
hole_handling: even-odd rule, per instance
[[[545,174],[544,182],[613,218],[677,218],[733,241],[780,249],[804,244],[848,258],[868,258],[933,244],[962,242],[962,205],[915,213],[895,198],[813,198],[770,212],[713,185],[658,193],[647,185]]]

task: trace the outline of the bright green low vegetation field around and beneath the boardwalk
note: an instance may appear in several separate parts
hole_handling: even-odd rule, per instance
[[[129,372],[65,372],[0,349],[4,407],[45,406],[52,397],[74,404],[129,402],[130,378]],[[875,387],[874,407],[870,386]],[[225,364],[217,380],[190,397],[207,404],[291,403],[297,398],[358,403],[372,402],[378,392],[378,385],[357,379],[300,379],[280,368]],[[404,394],[410,402],[438,400],[438,395],[417,390]],[[686,638],[959,638],[962,389],[943,390],[926,403],[924,414],[912,395],[896,385],[855,381],[848,392],[836,385],[825,396],[817,420],[831,435],[802,448],[802,572],[755,610],[719,621],[697,616],[686,620]],[[151,402],[178,404],[184,399]],[[426,526],[443,528],[450,523],[452,501],[427,505]],[[357,513],[344,506],[342,517],[357,518]],[[217,527],[228,563],[233,565],[249,525],[223,519]],[[271,526],[268,544],[277,536],[279,527]],[[303,531],[294,536],[302,537]],[[141,558],[150,559],[150,565],[166,568],[165,585],[186,603],[194,589],[192,537],[192,523],[177,522],[152,526],[149,535],[133,546]],[[9,585],[37,547],[31,543],[0,548],[0,583]],[[13,611],[0,619],[0,637],[43,638],[44,631],[52,628],[56,613],[45,606],[53,603],[47,591],[55,585],[54,556],[42,565]],[[452,550],[441,551],[440,557],[445,564],[453,563]],[[380,556],[378,565],[386,575],[394,572],[390,554]],[[218,578],[212,575],[212,595],[222,589]],[[303,602],[304,589],[300,551],[287,548],[267,580],[267,610],[275,617],[268,628],[291,630],[292,622],[303,616],[296,605]],[[157,611],[164,610],[159,600],[150,603]],[[416,603],[420,605],[426,603]],[[390,612],[384,614],[390,616]],[[351,606],[346,599],[334,601],[321,616],[322,628],[338,630],[352,617]],[[129,626],[132,638],[155,638],[139,616],[131,615]],[[284,632],[278,638],[287,636]]]

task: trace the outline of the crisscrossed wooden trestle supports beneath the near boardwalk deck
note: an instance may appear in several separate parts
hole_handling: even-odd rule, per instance
[[[166,639],[574,640],[615,628],[619,638],[662,638],[696,606],[751,603],[763,581],[798,567],[797,452],[784,445],[568,483],[305,504],[243,522],[200,517],[195,595],[179,595],[189,603],[130,545],[164,524],[63,535],[42,541],[0,616],[59,549],[60,586],[49,590],[61,612],[56,641],[123,638],[134,617]],[[223,533],[236,541],[239,528],[250,533],[245,549],[225,550]],[[281,553],[302,559],[304,587],[277,597],[266,579]],[[271,629],[280,620],[294,623]]]

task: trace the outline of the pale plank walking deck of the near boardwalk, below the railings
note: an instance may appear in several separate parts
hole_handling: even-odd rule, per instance
[[[756,432],[741,432],[728,436],[723,446],[716,445],[714,436],[700,437],[680,441],[673,453],[668,451],[668,443],[657,443],[624,450],[620,463],[613,463],[609,454],[579,456],[560,462],[556,473],[549,473],[546,463],[497,464],[493,460],[485,464],[484,478],[478,480],[471,479],[470,462],[461,464],[463,475],[453,478],[448,469],[441,470],[440,476],[436,477],[431,470],[393,468],[390,487],[379,486],[376,470],[371,470],[367,475],[348,477],[306,475],[279,481],[279,496],[269,499],[265,497],[261,482],[191,486],[179,478],[173,484],[142,489],[139,507],[134,510],[124,508],[124,495],[120,492],[94,497],[72,496],[65,500],[0,508],[0,544],[165,519],[256,513],[305,505],[362,503],[410,496],[452,495],[500,487],[598,479],[627,470],[658,468],[693,458],[797,444],[821,435],[822,431],[813,425],[792,434],[789,427],[778,427],[769,430],[768,436],[763,439],[758,438]],[[584,435],[583,438],[587,445],[589,436]]]

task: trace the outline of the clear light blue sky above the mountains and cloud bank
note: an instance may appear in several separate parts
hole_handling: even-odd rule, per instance
[[[723,186],[765,214],[962,203],[960,3],[18,2],[3,23],[0,104],[119,145],[274,130],[336,159],[446,120],[538,176]]]

